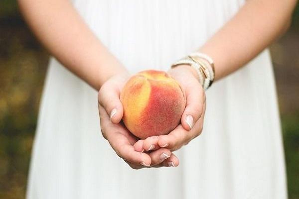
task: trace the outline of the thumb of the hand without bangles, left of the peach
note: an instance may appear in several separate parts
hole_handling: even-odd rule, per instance
[[[121,121],[124,109],[118,87],[103,85],[99,91],[98,101],[105,108],[113,123],[116,124]]]

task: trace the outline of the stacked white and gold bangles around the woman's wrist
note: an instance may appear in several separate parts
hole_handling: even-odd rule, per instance
[[[183,64],[189,65],[196,70],[199,82],[204,90],[207,90],[212,85],[215,77],[215,69],[214,62],[208,55],[197,52],[191,53],[172,64],[171,68]]]

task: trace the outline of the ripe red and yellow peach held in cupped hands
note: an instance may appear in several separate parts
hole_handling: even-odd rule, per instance
[[[135,136],[166,135],[179,123],[186,106],[179,83],[163,71],[132,76],[121,92],[123,122]]]

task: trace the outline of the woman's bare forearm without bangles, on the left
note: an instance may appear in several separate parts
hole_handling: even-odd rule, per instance
[[[25,20],[66,68],[96,90],[126,69],[84,23],[69,0],[19,0]]]

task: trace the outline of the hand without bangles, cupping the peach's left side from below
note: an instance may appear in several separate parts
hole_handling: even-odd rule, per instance
[[[178,164],[177,157],[166,148],[147,153],[135,151],[133,145],[139,139],[121,122],[124,109],[120,93],[129,77],[128,73],[115,75],[108,79],[99,91],[98,104],[104,138],[109,141],[117,155],[134,169],[169,166],[167,164],[169,161]]]

